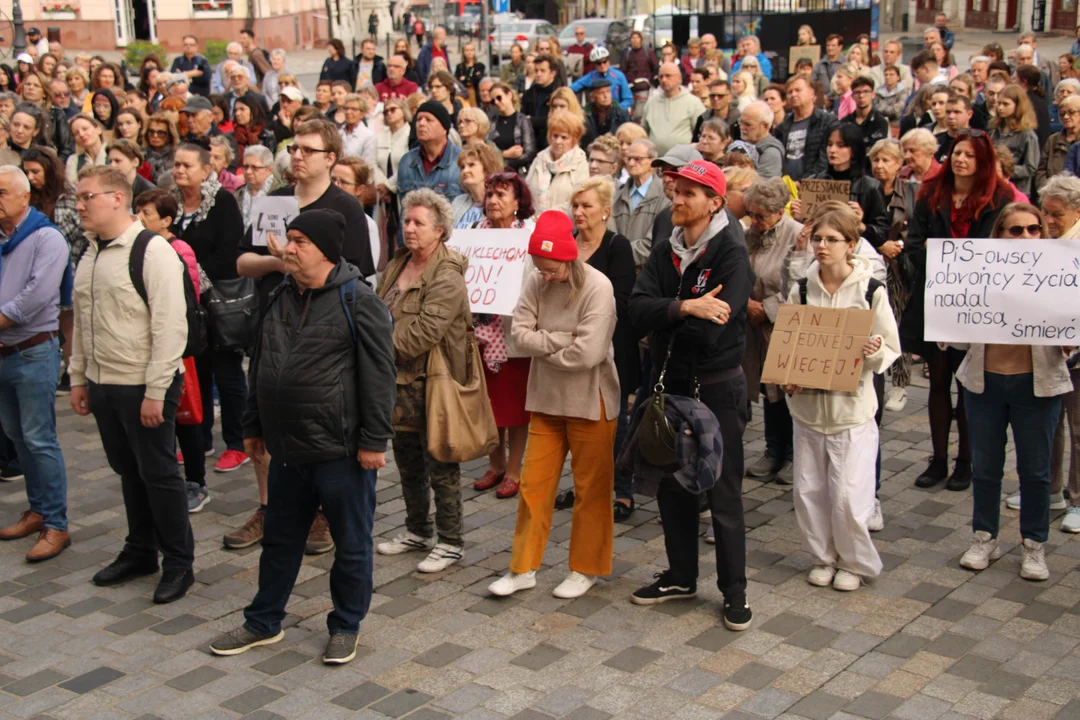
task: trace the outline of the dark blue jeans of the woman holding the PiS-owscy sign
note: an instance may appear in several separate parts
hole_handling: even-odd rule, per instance
[[[971,527],[998,535],[1005,429],[1011,426],[1020,476],[1020,534],[1044,543],[1050,532],[1050,458],[1062,396],[1036,397],[1034,377],[986,372],[982,393],[963,391],[972,453]]]

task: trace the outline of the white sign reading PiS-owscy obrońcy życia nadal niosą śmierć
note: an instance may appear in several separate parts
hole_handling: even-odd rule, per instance
[[[1078,344],[1080,241],[928,240],[924,321],[928,341]]]

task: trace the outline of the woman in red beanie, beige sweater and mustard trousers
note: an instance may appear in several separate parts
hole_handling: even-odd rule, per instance
[[[618,320],[611,281],[582,261],[570,218],[548,210],[529,239],[536,266],[514,311],[513,340],[532,356],[532,412],[510,572],[488,586],[508,596],[536,587],[566,453],[573,468],[570,573],[554,590],[576,598],[611,572],[619,380],[611,353]]]

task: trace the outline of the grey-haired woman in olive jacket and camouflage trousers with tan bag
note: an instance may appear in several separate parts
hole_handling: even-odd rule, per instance
[[[417,570],[440,572],[460,560],[464,549],[461,468],[435,460],[428,448],[426,372],[428,355],[437,345],[454,378],[465,382],[465,340],[472,325],[464,280],[468,261],[446,247],[454,217],[450,204],[433,190],[423,188],[405,195],[402,215],[405,247],[387,266],[376,291],[394,318],[394,460],[405,499],[406,530],[376,549],[381,555],[430,549]]]

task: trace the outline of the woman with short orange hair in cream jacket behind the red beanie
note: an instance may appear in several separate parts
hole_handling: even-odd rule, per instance
[[[566,110],[548,116],[548,147],[525,176],[538,215],[546,209],[568,212],[573,188],[589,177],[589,160],[578,147],[584,132],[581,118]]]

